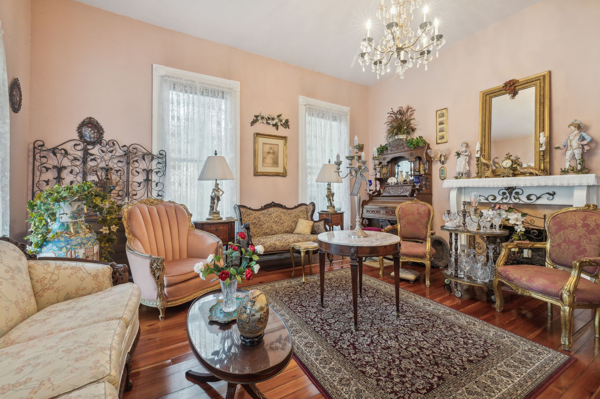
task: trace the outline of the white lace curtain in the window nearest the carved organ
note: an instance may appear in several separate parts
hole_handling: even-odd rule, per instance
[[[314,202],[317,211],[325,209],[327,199],[325,198],[326,183],[317,183],[317,175],[323,163],[335,161],[335,156],[340,153],[340,158],[348,153],[349,126],[347,112],[326,108],[320,105],[307,103],[305,111],[305,148],[306,148],[306,173],[305,187],[307,202]],[[344,164],[340,169],[343,170]],[[344,173],[345,174],[345,173]],[[334,191],[334,205],[341,206],[344,211],[344,226],[350,226],[350,183],[343,179],[342,183],[332,183],[331,190]]]

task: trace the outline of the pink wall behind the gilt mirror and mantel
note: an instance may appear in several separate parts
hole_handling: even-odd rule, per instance
[[[596,51],[600,2],[580,0],[567,3],[543,0],[493,26],[440,51],[428,65],[411,68],[404,79],[394,76],[369,87],[369,148],[383,142],[385,113],[390,108],[410,104],[416,108],[418,135],[432,147],[449,147],[448,178],[455,172],[455,150],[469,141],[472,154],[479,137],[479,92],[511,78],[524,78],[550,70],[550,143],[562,144],[567,125],[575,118],[596,143],[600,140],[600,53]],[[585,33],[587,32],[587,33]],[[436,109],[448,107],[449,142],[435,144]],[[590,145],[586,166],[600,172],[600,146]],[[551,151],[551,174],[564,165],[564,151]],[[449,189],[442,188],[439,163],[434,164],[434,229],[443,223],[441,213],[448,209]],[[471,176],[475,159],[470,159]]]

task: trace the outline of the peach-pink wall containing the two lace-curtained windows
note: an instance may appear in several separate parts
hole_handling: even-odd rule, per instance
[[[59,144],[92,116],[107,138],[151,148],[152,63],[240,82],[244,205],[298,203],[299,95],[349,106],[350,134],[368,137],[367,86],[71,0],[34,0],[32,27],[29,141]],[[259,111],[291,128],[250,127]],[[287,177],[253,175],[254,132],[288,136]]]

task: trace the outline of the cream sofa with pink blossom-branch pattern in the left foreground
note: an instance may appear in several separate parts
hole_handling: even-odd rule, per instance
[[[127,266],[23,249],[0,237],[0,398],[121,397],[139,339]]]

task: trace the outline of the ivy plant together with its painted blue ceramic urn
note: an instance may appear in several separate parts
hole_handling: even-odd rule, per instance
[[[93,182],[55,185],[46,188],[27,202],[31,240],[28,252],[40,256],[86,258],[111,261],[109,248],[116,242],[121,223],[116,216],[120,207],[110,195],[114,186],[102,187]],[[87,212],[98,214],[102,227],[97,235],[85,223]]]

